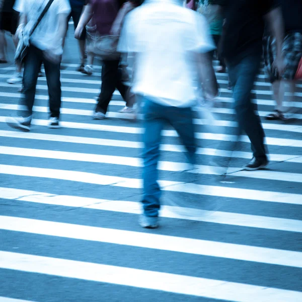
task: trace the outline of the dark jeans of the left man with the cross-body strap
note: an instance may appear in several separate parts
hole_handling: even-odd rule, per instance
[[[22,99],[22,101],[25,103],[28,110],[25,115],[32,115],[38,73],[41,69],[42,62],[44,64],[48,86],[50,116],[59,117],[61,107],[60,63],[52,63],[46,60],[43,57],[42,50],[33,45],[30,45],[28,53],[24,59],[24,99]]]

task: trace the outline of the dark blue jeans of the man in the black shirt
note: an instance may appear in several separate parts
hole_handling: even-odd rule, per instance
[[[260,67],[260,56],[249,55],[239,62],[226,62],[230,81],[233,86],[235,112],[239,124],[238,135],[243,131],[252,143],[253,155],[266,159],[264,131],[259,115],[255,114],[257,106],[251,101],[251,91]]]

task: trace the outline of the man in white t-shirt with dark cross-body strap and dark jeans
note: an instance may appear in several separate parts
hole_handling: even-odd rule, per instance
[[[32,108],[35,100],[38,72],[43,62],[49,94],[49,127],[59,127],[61,107],[60,62],[63,53],[62,41],[66,32],[66,20],[70,13],[68,0],[54,0],[34,33],[29,32],[49,0],[17,0],[14,9],[20,13],[17,35],[24,34],[29,50],[24,59],[22,103],[26,112],[11,117],[8,124],[24,131],[30,130]]]

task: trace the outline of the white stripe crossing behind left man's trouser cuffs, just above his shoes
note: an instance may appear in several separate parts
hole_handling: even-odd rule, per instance
[[[19,106],[15,104],[1,104],[0,103],[0,109],[5,110],[26,110],[26,106]],[[34,106],[33,107],[34,112],[43,112],[48,113],[48,108],[44,106]],[[85,109],[69,109],[69,108],[61,108],[60,109],[62,114],[70,114],[70,115],[83,115],[83,116],[92,116],[91,110],[85,110]],[[127,113],[119,113],[119,112],[107,112],[106,114],[109,118],[129,118],[131,119],[133,114],[127,114]],[[301,115],[302,116],[302,115]],[[138,116],[140,119],[142,118],[141,115]],[[237,127],[237,122],[232,121],[225,121],[225,120],[206,120],[206,119],[194,119],[194,123],[197,125],[212,125],[212,126],[219,126],[219,127]],[[296,133],[302,133],[302,126],[298,125],[284,125],[284,124],[262,124],[264,129],[269,130],[280,130],[280,131],[290,131],[290,132],[296,132]]]

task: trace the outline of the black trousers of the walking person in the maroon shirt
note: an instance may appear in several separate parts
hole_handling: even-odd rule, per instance
[[[122,83],[122,71],[119,68],[119,60],[103,61],[102,86],[96,111],[107,112],[115,88],[126,101],[129,87]]]

